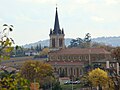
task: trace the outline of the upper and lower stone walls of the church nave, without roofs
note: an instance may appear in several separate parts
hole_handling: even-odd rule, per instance
[[[63,50],[64,52],[64,50]],[[59,74],[59,76],[64,72],[65,76],[75,76],[80,77],[83,72],[83,67],[85,65],[91,64],[94,61],[99,61],[103,59],[109,59],[110,53],[70,53],[67,54],[59,53],[59,51],[55,53],[49,53],[48,61],[49,62],[61,62],[63,64],[51,64],[54,67],[55,72]],[[64,64],[66,62],[66,64]],[[70,65],[68,63],[71,62]],[[76,64],[76,62],[81,64]]]

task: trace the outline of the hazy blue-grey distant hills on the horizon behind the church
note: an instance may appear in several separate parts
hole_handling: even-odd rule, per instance
[[[68,46],[70,44],[70,41],[72,38],[66,38],[65,39],[65,45]],[[105,43],[106,45],[111,45],[111,46],[120,46],[120,36],[118,37],[98,37],[98,38],[92,38],[93,42],[98,42],[98,43]],[[37,46],[41,44],[41,46],[49,46],[49,39],[43,40],[43,41],[38,41],[35,43],[30,43],[26,44],[23,47],[25,48],[30,48],[31,46]]]

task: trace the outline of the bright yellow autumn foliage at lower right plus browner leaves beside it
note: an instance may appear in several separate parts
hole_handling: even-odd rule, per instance
[[[114,90],[113,80],[108,76],[106,71],[97,68],[88,74],[89,81],[94,87],[101,86],[103,90]]]

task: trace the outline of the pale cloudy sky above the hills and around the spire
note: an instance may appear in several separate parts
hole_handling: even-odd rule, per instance
[[[120,36],[120,0],[0,0],[0,29],[13,25],[16,45],[49,39],[56,4],[65,38]]]

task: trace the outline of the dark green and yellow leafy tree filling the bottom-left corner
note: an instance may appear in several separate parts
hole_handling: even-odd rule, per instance
[[[3,69],[0,79],[0,90],[29,90],[29,81],[15,71],[8,72]]]

